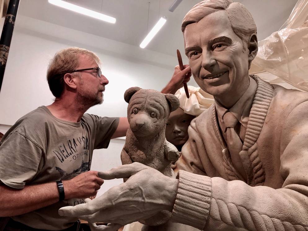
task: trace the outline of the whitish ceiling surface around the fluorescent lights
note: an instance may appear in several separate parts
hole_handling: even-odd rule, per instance
[[[20,1],[18,14],[134,46],[139,46],[147,35],[147,27],[148,31],[151,30],[161,16],[166,16],[166,24],[146,49],[175,56],[176,50],[183,48],[181,32],[183,17],[199,1],[183,0],[174,12],[169,12],[168,8],[174,0],[67,0],[78,6],[115,17],[117,19],[115,24],[65,10],[48,3],[47,0]],[[150,2],[149,14],[148,2]],[[279,30],[297,0],[237,2],[243,3],[252,13],[258,28],[258,39],[262,40]],[[90,45],[91,41],[88,43]]]

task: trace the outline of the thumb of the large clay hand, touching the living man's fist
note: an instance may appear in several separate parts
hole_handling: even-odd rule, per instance
[[[117,168],[112,168],[108,172],[98,172],[98,176],[105,180],[112,180],[118,178],[130,178],[137,172],[147,169],[148,167],[142,163],[124,164]]]

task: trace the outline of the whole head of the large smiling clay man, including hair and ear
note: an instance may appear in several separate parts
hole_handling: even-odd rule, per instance
[[[201,89],[214,97],[232,97],[248,87],[248,70],[258,50],[257,28],[241,3],[202,1],[185,15],[182,31],[185,54]]]

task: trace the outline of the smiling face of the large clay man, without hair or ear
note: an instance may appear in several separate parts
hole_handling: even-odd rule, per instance
[[[195,81],[207,93],[230,94],[248,77],[249,50],[233,32],[224,11],[187,25],[184,41]]]

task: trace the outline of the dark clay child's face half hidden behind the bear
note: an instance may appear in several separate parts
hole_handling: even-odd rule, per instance
[[[170,113],[166,124],[166,139],[173,145],[183,145],[188,140],[188,126],[195,116],[184,113],[183,109]]]

